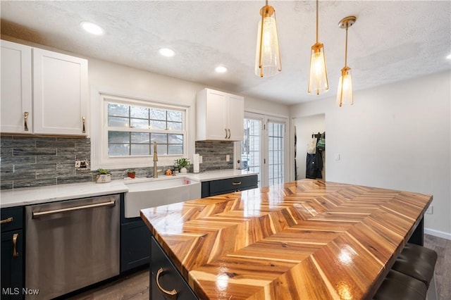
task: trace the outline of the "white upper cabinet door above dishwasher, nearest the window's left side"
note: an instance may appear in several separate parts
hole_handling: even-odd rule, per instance
[[[87,61],[33,49],[35,133],[86,135]]]

